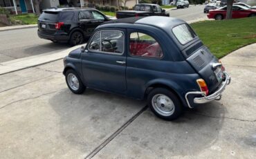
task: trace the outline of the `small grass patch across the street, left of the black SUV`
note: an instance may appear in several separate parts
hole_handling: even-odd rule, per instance
[[[23,15],[12,15],[10,17],[12,20],[19,20],[22,24],[37,24],[37,15],[33,13],[23,14]]]

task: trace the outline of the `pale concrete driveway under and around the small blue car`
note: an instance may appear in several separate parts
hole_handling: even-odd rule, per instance
[[[145,102],[75,95],[62,60],[0,76],[0,158],[255,158],[256,44],[222,59],[220,101],[166,122]]]

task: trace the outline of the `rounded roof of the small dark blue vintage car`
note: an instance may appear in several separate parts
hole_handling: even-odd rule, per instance
[[[185,21],[174,17],[161,17],[161,16],[149,16],[149,17],[129,17],[122,19],[115,19],[104,22],[100,28],[104,28],[105,24],[108,26],[116,26],[116,24],[143,24],[148,26],[156,26],[158,28],[173,28],[179,24],[184,24]]]

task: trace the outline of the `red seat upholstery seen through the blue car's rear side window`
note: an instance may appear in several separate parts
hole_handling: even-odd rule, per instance
[[[143,42],[130,42],[130,53],[134,56],[161,57],[163,55],[161,47],[157,42],[149,44]]]

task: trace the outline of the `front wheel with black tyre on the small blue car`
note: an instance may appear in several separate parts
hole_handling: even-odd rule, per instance
[[[65,73],[66,77],[66,84],[68,85],[68,88],[75,94],[81,94],[85,90],[84,84],[82,84],[82,80],[77,75],[75,71],[72,69],[69,69]]]

